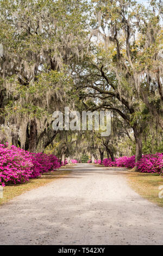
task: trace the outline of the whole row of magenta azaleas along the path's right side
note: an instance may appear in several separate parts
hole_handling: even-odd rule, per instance
[[[135,163],[135,156],[122,156],[115,159],[115,162],[112,162],[111,159],[104,159],[103,165],[127,168],[137,166],[137,169],[142,173],[159,173],[163,167],[163,154],[156,153],[142,156],[137,163]]]

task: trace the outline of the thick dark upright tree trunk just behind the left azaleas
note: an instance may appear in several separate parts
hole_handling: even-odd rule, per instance
[[[37,124],[36,124],[36,120],[34,119],[30,123],[29,151],[32,153],[35,153],[36,147],[37,147]]]

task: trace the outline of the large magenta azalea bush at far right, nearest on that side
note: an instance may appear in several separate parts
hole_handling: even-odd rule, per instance
[[[163,167],[163,154],[149,154],[143,156],[137,163],[137,169],[142,173],[160,173]]]

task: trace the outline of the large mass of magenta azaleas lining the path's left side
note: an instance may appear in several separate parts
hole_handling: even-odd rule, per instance
[[[60,163],[54,155],[30,153],[14,145],[7,148],[0,144],[0,186],[25,182],[59,167]]]

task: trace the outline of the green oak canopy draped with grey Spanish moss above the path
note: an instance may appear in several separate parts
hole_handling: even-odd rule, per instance
[[[1,141],[62,160],[161,151],[162,39],[161,1],[2,0]],[[65,106],[111,111],[111,135],[54,131]]]

